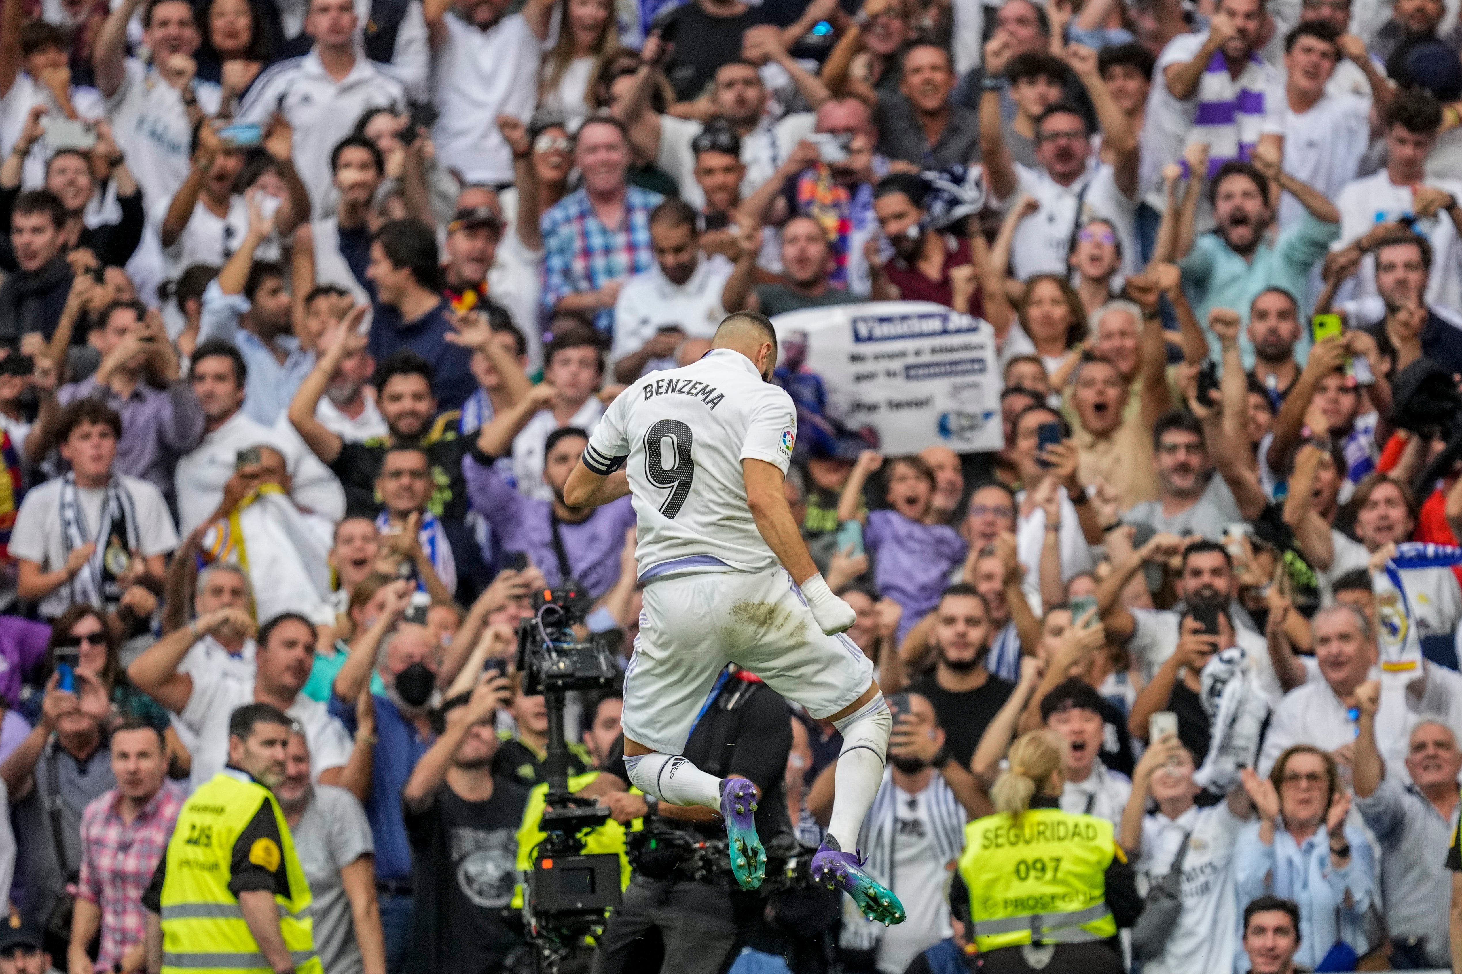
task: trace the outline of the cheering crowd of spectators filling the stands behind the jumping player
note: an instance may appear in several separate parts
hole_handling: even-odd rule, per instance
[[[513,7],[0,0],[0,895],[44,932],[0,974],[146,970],[251,702],[326,974],[523,970],[544,701],[443,702],[569,578],[627,664],[635,511],[563,499],[624,384],[866,301],[984,320],[1004,445],[879,442],[782,336],[788,498],[904,695],[864,851],[909,916],[794,967],[952,970],[1042,727],[1139,889],[1181,873],[1143,971],[1462,954],[1456,10]],[[570,772],[629,822],[618,714],[572,701]],[[787,720],[816,848],[839,743]]]

